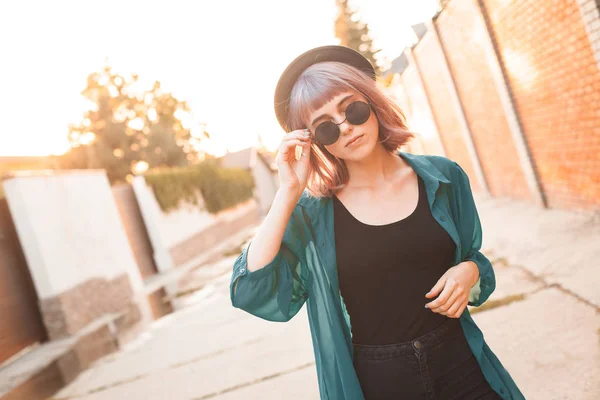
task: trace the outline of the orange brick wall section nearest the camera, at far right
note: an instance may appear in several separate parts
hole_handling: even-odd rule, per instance
[[[483,3],[549,207],[597,207],[600,71],[577,2]]]

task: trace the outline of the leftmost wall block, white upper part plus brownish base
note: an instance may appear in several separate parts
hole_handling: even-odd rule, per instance
[[[15,173],[3,184],[51,339],[138,307],[142,279],[104,171]]]

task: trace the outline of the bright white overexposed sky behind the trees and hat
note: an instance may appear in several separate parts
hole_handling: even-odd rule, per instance
[[[382,61],[414,40],[435,0],[354,0]],[[0,156],[61,154],[82,119],[87,76],[105,63],[186,100],[213,154],[283,130],[273,111],[279,75],[310,48],[338,44],[335,0],[0,2]]]

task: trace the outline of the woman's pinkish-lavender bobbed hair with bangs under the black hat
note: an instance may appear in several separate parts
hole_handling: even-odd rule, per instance
[[[379,121],[379,141],[387,151],[396,152],[414,137],[406,128],[400,107],[372,78],[357,68],[335,61],[314,64],[300,75],[290,96],[288,130],[305,128],[311,112],[347,91],[361,93],[372,104]],[[316,197],[331,197],[348,183],[348,168],[344,160],[316,141],[311,144],[311,153],[307,190]]]

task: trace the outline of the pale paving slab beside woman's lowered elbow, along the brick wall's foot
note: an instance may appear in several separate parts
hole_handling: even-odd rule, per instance
[[[475,200],[483,248],[600,307],[600,211],[543,209],[481,194]]]

